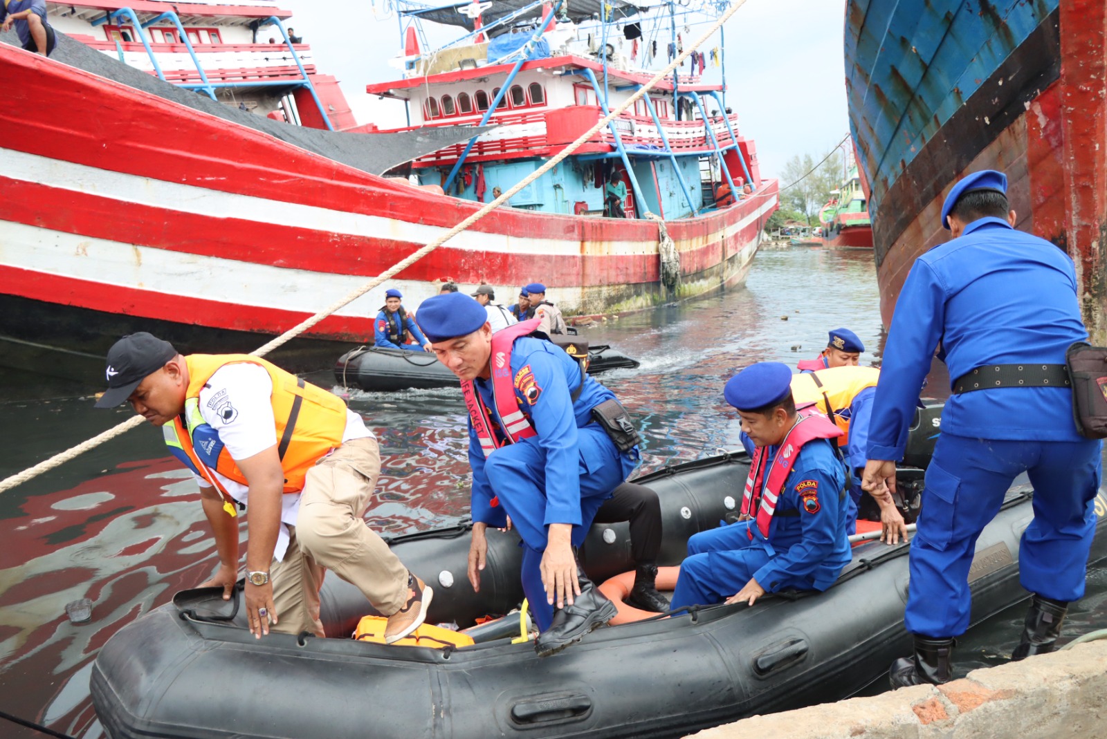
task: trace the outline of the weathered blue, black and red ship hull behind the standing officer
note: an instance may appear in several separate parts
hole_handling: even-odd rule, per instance
[[[1016,228],[1073,257],[1085,323],[1107,341],[1105,43],[1099,2],[850,0],[850,128],[886,326],[914,259],[949,239],[950,189],[1000,169]]]

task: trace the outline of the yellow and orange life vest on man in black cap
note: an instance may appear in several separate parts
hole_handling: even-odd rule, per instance
[[[214,485],[225,498],[227,491],[208,470],[214,469],[241,485],[249,483],[218,435],[200,415],[200,389],[220,367],[250,363],[269,373],[273,384],[270,400],[276,421],[277,452],[284,471],[284,492],[302,490],[308,470],[331,449],[341,446],[346,407],[332,393],[306,383],[271,362],[247,354],[190,354],[185,357],[185,363],[188,366],[185,413],[163,427],[165,443],[174,456]],[[234,514],[234,509],[228,507],[228,512]]]

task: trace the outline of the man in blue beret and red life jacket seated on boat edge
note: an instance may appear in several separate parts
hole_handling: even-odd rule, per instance
[[[689,539],[672,605],[744,602],[785,589],[824,591],[850,560],[846,469],[826,416],[797,413],[792,371],[751,365],[727,381],[753,462],[741,519]]]

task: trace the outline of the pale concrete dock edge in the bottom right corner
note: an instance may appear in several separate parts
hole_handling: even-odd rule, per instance
[[[700,731],[696,739],[1099,739],[1107,641],[917,686]]]

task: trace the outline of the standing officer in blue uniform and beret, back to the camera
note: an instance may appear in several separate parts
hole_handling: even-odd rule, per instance
[[[1034,486],[1034,519],[1018,548],[1020,580],[1034,597],[1012,658],[1051,652],[1067,604],[1084,595],[1100,444],[1077,433],[1064,363],[1087,332],[1073,260],[1014,229],[1006,186],[985,170],[953,187],[942,206],[953,238],[915,260],[888,333],[863,481],[873,497],[894,486],[935,350],[953,378],[911,542],[904,622],[914,655],[892,665],[892,687],[951,678],[976,539],[1021,472]],[[982,375],[987,382],[975,382]]]

